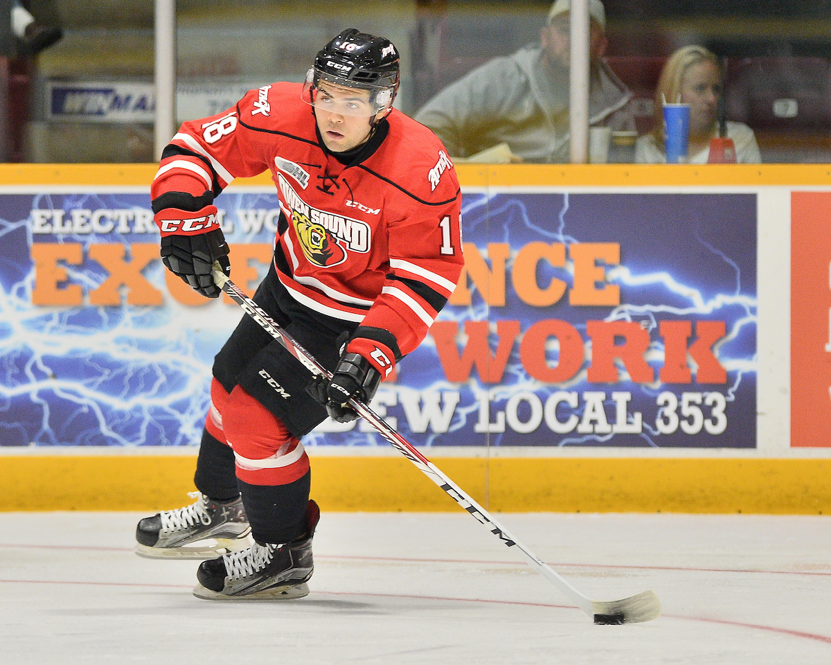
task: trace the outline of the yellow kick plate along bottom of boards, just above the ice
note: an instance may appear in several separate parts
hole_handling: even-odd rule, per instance
[[[494,512],[831,513],[831,460],[440,458]],[[195,456],[2,456],[2,510],[150,510],[189,503]],[[399,457],[315,457],[312,497],[332,511],[459,510]]]

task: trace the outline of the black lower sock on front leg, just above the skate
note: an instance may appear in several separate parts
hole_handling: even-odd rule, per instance
[[[254,540],[290,543],[306,533],[311,480],[311,471],[288,485],[248,485],[239,480]]]

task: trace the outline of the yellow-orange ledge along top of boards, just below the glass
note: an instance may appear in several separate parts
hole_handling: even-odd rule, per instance
[[[0,164],[0,186],[150,187],[155,164]],[[455,166],[463,187],[724,187],[831,185],[827,164],[509,164]],[[426,177],[426,175],[425,175]],[[272,187],[271,174],[232,186]]]

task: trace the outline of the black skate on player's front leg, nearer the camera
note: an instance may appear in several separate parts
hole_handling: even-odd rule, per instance
[[[320,509],[309,500],[308,529],[302,540],[282,545],[254,543],[242,552],[199,564],[194,596],[207,600],[288,600],[309,593],[312,536]]]

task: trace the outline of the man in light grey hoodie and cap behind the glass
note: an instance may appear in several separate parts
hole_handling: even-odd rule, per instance
[[[430,127],[450,156],[470,157],[500,143],[511,160],[567,162],[569,0],[557,0],[540,43],[497,57],[447,86],[422,106],[416,120]],[[589,124],[634,131],[632,93],[602,60],[606,12],[590,0]]]

